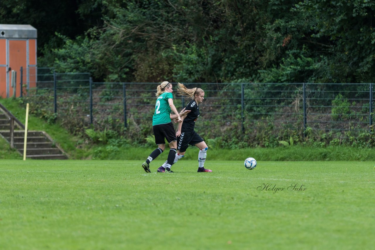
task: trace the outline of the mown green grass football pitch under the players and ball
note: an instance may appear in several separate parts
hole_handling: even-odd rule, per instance
[[[141,163],[1,160],[0,249],[375,246],[375,162]]]

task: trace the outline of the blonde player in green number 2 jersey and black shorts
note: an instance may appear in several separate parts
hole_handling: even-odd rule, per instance
[[[148,173],[151,172],[149,165],[150,162],[159,156],[159,154],[163,153],[165,149],[164,138],[167,140],[170,148],[165,172],[172,172],[171,166],[177,152],[177,139],[171,119],[176,118],[179,123],[182,122],[180,117],[182,113],[178,114],[176,107],[173,105],[172,92],[172,84],[170,82],[164,81],[157,86],[157,91],[155,94],[157,99],[155,104],[155,112],[152,117],[152,129],[155,135],[155,143],[158,148],[152,151],[147,160],[142,163],[142,168]],[[176,115],[171,115],[171,111],[173,111]]]

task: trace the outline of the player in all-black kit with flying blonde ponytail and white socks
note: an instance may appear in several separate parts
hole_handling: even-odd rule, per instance
[[[199,148],[198,153],[198,172],[212,172],[210,169],[204,168],[204,162],[207,155],[207,144],[204,140],[194,131],[195,122],[198,119],[199,112],[199,103],[204,100],[204,91],[201,88],[186,88],[185,85],[178,83],[177,84],[177,93],[180,96],[190,97],[192,100],[186,105],[185,110],[190,110],[186,116],[182,116],[182,123],[178,124],[178,130],[176,133],[177,136],[177,153],[174,158],[176,163],[181,159],[185,152],[188,144],[196,146]],[[165,172],[167,163],[165,162],[157,172]]]

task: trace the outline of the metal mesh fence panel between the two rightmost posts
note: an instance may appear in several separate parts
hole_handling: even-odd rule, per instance
[[[369,129],[370,86],[362,83],[308,84],[308,126],[336,131]]]

